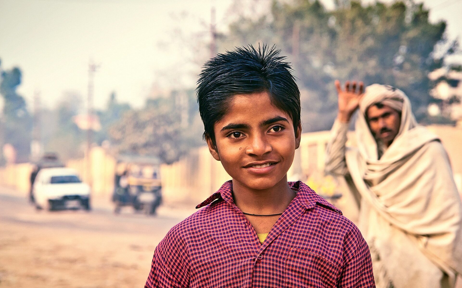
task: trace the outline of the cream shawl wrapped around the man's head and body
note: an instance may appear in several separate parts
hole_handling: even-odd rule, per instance
[[[401,126],[378,159],[365,112],[390,99],[402,100]],[[401,90],[374,84],[361,100],[356,137],[358,150],[346,149],[346,165],[362,196],[359,226],[371,252],[377,249],[396,288],[432,287],[431,265],[444,271],[447,287],[453,287],[462,272],[462,206],[438,136],[416,123]],[[419,259],[415,247],[425,257]],[[406,263],[413,267],[400,267]]]

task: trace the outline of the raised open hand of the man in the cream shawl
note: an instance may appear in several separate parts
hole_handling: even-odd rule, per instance
[[[358,91],[356,91],[356,81],[353,81],[350,85],[349,81],[345,82],[345,90],[340,87],[340,81],[335,80],[335,87],[339,95],[339,113],[337,118],[340,122],[350,122],[353,113],[359,107],[359,101],[363,97],[364,83],[358,83]]]

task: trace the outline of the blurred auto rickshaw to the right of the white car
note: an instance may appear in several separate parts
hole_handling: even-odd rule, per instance
[[[114,177],[114,212],[122,206],[132,206],[136,212],[156,213],[162,203],[160,161],[153,157],[121,155]]]

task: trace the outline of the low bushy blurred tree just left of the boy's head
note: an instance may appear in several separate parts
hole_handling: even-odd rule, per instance
[[[203,126],[195,105],[192,90],[148,99],[143,109],[125,112],[110,127],[110,141],[118,153],[156,156],[173,163],[189,149],[203,145]]]

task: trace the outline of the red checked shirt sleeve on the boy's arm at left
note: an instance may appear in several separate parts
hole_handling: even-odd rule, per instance
[[[188,288],[189,263],[185,241],[173,227],[154,251],[145,288]]]

